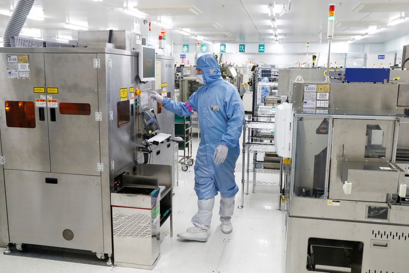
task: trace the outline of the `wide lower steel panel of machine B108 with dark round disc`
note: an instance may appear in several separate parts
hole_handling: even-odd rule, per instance
[[[5,170],[10,241],[104,251],[101,178]]]

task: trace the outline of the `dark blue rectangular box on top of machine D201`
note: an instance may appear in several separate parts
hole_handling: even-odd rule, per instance
[[[389,82],[390,69],[345,69],[346,82]]]

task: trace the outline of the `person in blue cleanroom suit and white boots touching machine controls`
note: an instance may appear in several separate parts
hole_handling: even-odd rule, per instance
[[[178,116],[197,112],[202,134],[195,163],[195,186],[198,212],[193,227],[177,236],[185,240],[207,241],[214,197],[220,192],[221,230],[231,233],[234,197],[239,191],[234,171],[240,154],[239,138],[244,123],[244,108],[237,88],[221,77],[216,58],[203,55],[197,59],[197,80],[203,84],[187,102],[174,102],[151,92],[150,98],[162,103]]]

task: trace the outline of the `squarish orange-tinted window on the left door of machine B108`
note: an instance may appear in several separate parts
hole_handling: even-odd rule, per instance
[[[8,127],[35,128],[35,107],[32,101],[6,101]]]

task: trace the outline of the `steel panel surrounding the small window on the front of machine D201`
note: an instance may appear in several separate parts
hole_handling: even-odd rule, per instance
[[[330,162],[330,179],[329,179],[329,198],[342,200],[357,200],[357,201],[374,201],[385,202],[387,194],[390,192],[390,185],[383,184],[381,180],[377,180],[380,187],[375,190],[373,186],[359,191],[354,191],[352,185],[352,193],[345,194],[343,190],[342,173],[345,162],[367,162],[377,164],[387,164],[392,160],[392,144],[393,134],[395,130],[394,120],[355,120],[355,119],[334,119],[332,133],[332,151]],[[346,130],[348,128],[348,130]],[[379,137],[372,136],[370,129],[379,128]],[[379,143],[377,154],[373,154],[370,149],[370,141]],[[381,166],[380,166],[381,167]],[[379,169],[381,170],[381,169]],[[379,179],[389,177],[389,173],[385,173],[387,177],[379,174]],[[358,176],[359,177],[359,176]],[[356,180],[356,173],[354,175]],[[389,177],[390,178],[390,177]],[[374,181],[372,181],[374,182]],[[368,181],[371,183],[371,180]],[[355,185],[358,186],[358,185]],[[396,184],[396,191],[398,184]]]

